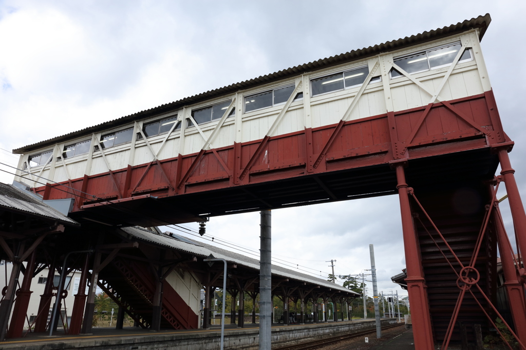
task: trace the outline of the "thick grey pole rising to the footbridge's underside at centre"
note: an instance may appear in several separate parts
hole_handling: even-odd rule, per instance
[[[261,210],[259,257],[259,350],[270,350],[272,326],[271,212]]]

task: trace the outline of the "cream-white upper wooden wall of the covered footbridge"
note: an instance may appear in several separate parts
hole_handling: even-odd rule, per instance
[[[393,57],[399,57],[413,52],[426,50],[432,47],[455,43],[458,41],[462,43],[469,43],[468,47],[473,48],[471,54],[473,60],[469,62],[458,63],[444,84],[440,91],[439,98],[442,100],[454,100],[468,96],[474,96],[481,94],[484,91],[491,89],[489,86],[489,79],[487,77],[487,71],[485,70],[484,61],[481,55],[480,44],[478,42],[478,36],[476,30],[467,32],[466,34],[450,37],[442,40],[433,41],[425,45],[418,47],[406,48],[403,50],[397,50],[393,52],[387,52],[379,56],[382,64],[385,62],[392,62]],[[360,87],[351,88],[348,90],[341,90],[336,92],[330,92],[319,96],[309,96],[310,91],[310,79],[319,78],[322,76],[330,75],[332,73],[338,73],[358,66],[369,65],[369,68],[375,67],[378,57],[368,58],[360,62],[350,63],[348,65],[340,65],[337,67],[331,67],[323,71],[317,71],[312,73],[310,76],[298,76],[296,78],[289,78],[285,81],[275,82],[268,84],[267,86],[258,87],[257,89],[251,89],[247,91],[240,91],[229,97],[229,99],[236,98],[236,116],[235,118],[226,119],[225,123],[221,126],[217,137],[212,143],[213,147],[225,147],[234,144],[234,141],[238,142],[249,142],[255,140],[261,140],[268,133],[272,123],[276,120],[280,113],[283,105],[276,107],[270,107],[261,109],[258,111],[252,111],[249,113],[242,113],[244,108],[244,95],[250,95],[262,91],[268,91],[276,87],[284,86],[285,84],[296,83],[298,84],[301,79],[304,85],[303,91],[305,92],[305,101],[292,102],[289,109],[286,111],[284,117],[277,125],[274,131],[275,135],[288,134],[304,130],[304,128],[312,127],[317,128],[319,126],[331,125],[338,123],[343,114],[349,108],[349,105],[356,98],[356,95]],[[416,73],[411,75],[411,78],[418,80],[422,86],[424,86],[430,92],[436,92],[441,85],[444,75],[446,75],[449,67],[440,69],[430,70],[426,72]],[[377,76],[380,75],[381,70],[377,71]],[[391,100],[387,100],[393,105],[395,112],[423,107],[430,101],[431,95],[429,92],[424,91],[422,88],[417,86],[408,77],[402,76],[397,79],[390,79],[388,73],[384,70],[382,74],[382,82],[372,83],[367,86],[363,94],[358,100],[358,104],[352,110],[347,120],[356,120],[361,118],[367,118],[369,116],[375,116],[384,114],[387,112],[386,99],[391,97]],[[390,90],[390,91],[388,91]],[[200,109],[213,105],[219,102],[225,102],[225,97],[216,99],[214,101],[207,101],[198,105],[185,107],[183,110],[170,112],[173,115],[177,112],[179,119],[182,120],[183,124],[186,124],[186,119],[191,114],[192,109]],[[304,113],[304,103],[307,105],[307,114]],[[310,111],[309,111],[310,110]],[[162,116],[167,114],[157,115],[148,120],[139,121],[137,125],[143,125],[149,121],[158,120]],[[164,118],[164,117],[163,117]],[[175,158],[179,153],[193,154],[199,152],[204,144],[205,139],[214,131],[214,128],[218,124],[218,120],[212,121],[205,124],[200,124],[199,128],[204,134],[198,132],[197,128],[190,127],[185,128],[183,125],[184,137],[181,138],[181,130],[174,131],[166,141],[163,149],[158,152],[161,143],[166,137],[164,135],[158,135],[148,138],[154,152],[158,152],[158,159]],[[118,130],[124,130],[129,128],[131,125],[123,126],[122,128],[108,129],[109,131],[115,132]],[[186,129],[186,130],[185,130]],[[99,137],[101,134],[96,134]],[[76,141],[85,140],[88,135],[84,135],[77,140],[70,140],[67,144],[74,143]],[[180,144],[183,140],[183,144]],[[104,150],[109,166],[112,170],[122,169],[128,165],[140,165],[149,163],[154,160],[154,154],[152,154],[149,147],[146,145],[145,140],[139,140],[134,144],[134,150],[131,150],[132,144],[124,144],[116,147],[110,147]],[[94,145],[92,144],[92,147]],[[63,149],[63,144],[57,145],[59,150]],[[41,151],[48,151],[49,146]],[[32,152],[32,154],[38,153],[38,150]],[[104,162],[100,152],[94,152],[92,164],[86,165],[86,157],[88,155],[82,155],[73,157],[66,160],[68,172],[72,179],[82,177],[86,172],[89,175],[98,173],[105,173],[108,171],[108,166]],[[26,161],[28,155],[23,155],[22,160]],[[58,160],[55,164],[55,172],[49,171],[50,165],[46,167],[43,172],[44,177],[52,176],[52,181],[62,182],[67,181],[67,174],[62,166],[62,161]],[[32,168],[32,172],[38,174],[39,168]],[[21,174],[20,172],[18,174]],[[26,183],[33,183],[31,175],[25,174],[22,176]],[[24,180],[23,180],[24,181]],[[38,185],[38,184],[37,184]]]

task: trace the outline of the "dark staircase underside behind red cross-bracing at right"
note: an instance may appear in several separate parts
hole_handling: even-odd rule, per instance
[[[443,187],[438,190],[434,189],[429,193],[419,193],[415,188],[415,194],[453,252],[464,266],[469,266],[479,231],[483,225],[484,207],[490,202],[487,188],[484,186]],[[440,250],[457,272],[460,272],[460,267],[415,201],[411,200],[411,206],[413,222],[420,243],[424,278],[428,287],[433,337],[436,342],[442,343],[454,306],[459,298],[460,289],[457,287],[457,275],[454,274]],[[437,248],[427,231],[430,232],[440,249]],[[495,296],[497,293],[495,288],[490,286],[496,285],[494,280],[497,279],[497,239],[494,236],[491,222],[482,241],[475,267],[480,272],[478,285],[496,305]],[[471,291],[494,320],[495,315],[477,288],[473,286]],[[460,323],[467,325],[468,339],[470,340],[474,340],[472,324],[480,324],[483,331],[488,330],[490,326],[487,317],[469,292],[464,296],[460,308],[451,338],[453,342],[460,341]]]

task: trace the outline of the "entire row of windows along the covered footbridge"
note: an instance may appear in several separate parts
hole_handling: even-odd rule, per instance
[[[447,67],[451,65],[461,47],[462,45],[460,43],[456,43],[448,46],[432,48],[427,51],[418,52],[417,54],[396,58],[394,62],[408,73],[418,73],[431,69]],[[469,49],[467,49],[462,54],[459,62],[466,62],[470,61],[471,59],[471,52]],[[358,87],[363,84],[363,82],[365,82],[365,79],[368,75],[369,67],[360,67],[332,74],[330,76],[312,79],[310,81],[312,87],[312,96]],[[402,74],[399,71],[394,68],[391,69],[391,79],[401,76]],[[379,81],[381,81],[380,76],[373,77],[369,83],[375,83]],[[295,88],[296,87],[294,85],[290,85],[261,92],[252,96],[247,96],[245,97],[244,103],[245,113],[284,104],[287,102],[292,92],[294,92]],[[303,92],[297,93],[293,101],[298,101],[301,99],[303,99]],[[204,124],[210,121],[218,120],[223,116],[230,103],[231,101],[192,111],[191,115],[197,124]],[[228,118],[234,116],[235,112],[236,109],[232,108],[231,112],[228,114]],[[181,128],[181,122],[177,121],[177,115],[175,115],[167,119],[144,124],[143,132],[146,137],[161,135],[169,132],[172,126],[174,126],[174,123],[177,123],[175,130]],[[193,122],[188,119],[187,127],[189,128],[193,125]],[[128,143],[131,142],[132,136],[133,128],[109,134],[102,137],[100,140],[100,146],[103,149],[106,149],[119,144]],[[137,140],[141,139],[143,139],[143,136],[138,133]],[[91,141],[83,141],[74,145],[66,146],[64,147],[63,157],[70,158],[76,155],[88,153],[90,144]],[[98,149],[95,151],[97,150]],[[34,167],[44,165],[51,155],[52,151],[33,155],[29,157],[29,166]]]

